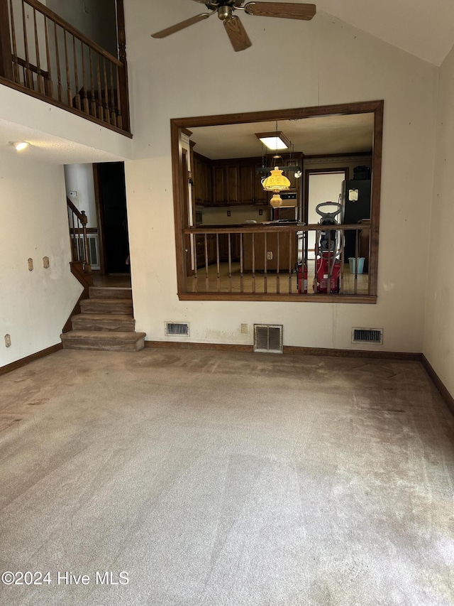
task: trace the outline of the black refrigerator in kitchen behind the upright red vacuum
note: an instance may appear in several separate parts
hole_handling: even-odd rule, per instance
[[[355,179],[342,182],[342,222],[357,224],[370,219],[370,179]],[[355,256],[355,232],[345,232],[344,260]]]

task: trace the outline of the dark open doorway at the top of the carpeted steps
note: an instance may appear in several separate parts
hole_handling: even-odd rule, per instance
[[[103,274],[129,274],[128,216],[123,162],[94,164]]]

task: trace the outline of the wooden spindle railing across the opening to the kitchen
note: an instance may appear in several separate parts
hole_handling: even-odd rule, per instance
[[[188,227],[184,238],[182,300],[376,301],[370,224]]]

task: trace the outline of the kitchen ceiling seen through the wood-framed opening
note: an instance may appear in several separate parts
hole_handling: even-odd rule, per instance
[[[292,141],[294,151],[305,156],[329,153],[370,152],[374,114],[333,115],[299,120],[280,120],[277,130]],[[262,144],[255,133],[275,132],[276,122],[223,124],[192,128],[194,150],[211,160],[250,158],[262,155]],[[266,153],[270,153],[265,149]]]

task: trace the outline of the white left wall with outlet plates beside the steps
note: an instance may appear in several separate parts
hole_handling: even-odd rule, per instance
[[[63,167],[0,153],[0,200],[1,367],[60,342],[82,287],[70,273]]]

